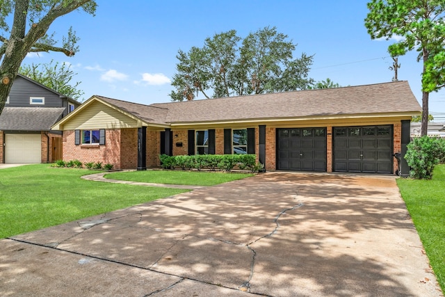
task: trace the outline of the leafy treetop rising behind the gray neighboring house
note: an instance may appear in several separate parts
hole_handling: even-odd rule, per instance
[[[54,63],[54,60],[45,64],[33,63],[20,67],[19,73],[38,83],[42,83],[42,85],[47,86],[51,90],[76,100],[81,99],[81,96],[85,94],[83,90],[78,88],[81,81],[72,82],[72,78],[76,73],[71,70],[71,64]]]

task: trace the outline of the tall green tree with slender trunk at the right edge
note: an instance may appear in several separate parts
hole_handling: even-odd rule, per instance
[[[403,38],[389,45],[391,56],[419,51],[417,61],[423,62],[421,135],[427,135],[429,94],[445,86],[445,1],[373,0],[368,8],[365,26],[372,39]]]

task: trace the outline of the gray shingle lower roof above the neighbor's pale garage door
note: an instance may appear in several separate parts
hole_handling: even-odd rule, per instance
[[[64,107],[5,107],[0,115],[0,130],[49,131],[64,110]]]

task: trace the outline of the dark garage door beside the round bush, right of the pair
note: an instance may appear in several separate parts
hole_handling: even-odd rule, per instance
[[[392,173],[393,127],[334,127],[334,171]]]

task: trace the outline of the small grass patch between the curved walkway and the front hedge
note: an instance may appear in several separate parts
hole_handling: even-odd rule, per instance
[[[121,179],[131,182],[149,182],[154,184],[185,184],[195,186],[213,186],[236,179],[251,177],[248,173],[185,171],[185,170],[146,170],[113,172],[105,175],[108,179]]]

